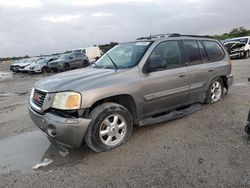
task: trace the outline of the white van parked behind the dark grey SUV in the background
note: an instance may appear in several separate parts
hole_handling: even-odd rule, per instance
[[[72,53],[85,54],[88,57],[90,63],[95,62],[102,55],[102,51],[100,50],[98,46],[79,48],[79,49],[73,50]]]

